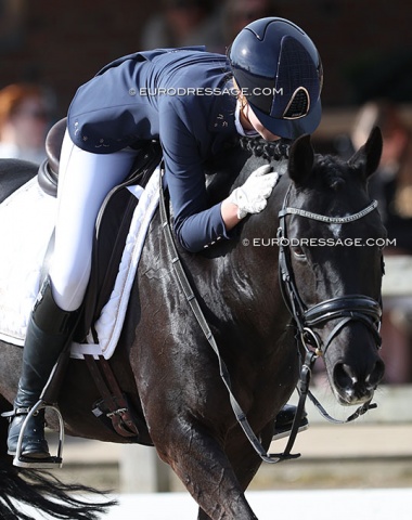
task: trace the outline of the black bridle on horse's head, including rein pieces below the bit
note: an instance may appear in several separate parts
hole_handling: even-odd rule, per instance
[[[329,217],[313,213],[304,209],[287,206],[291,194],[289,185],[283,200],[282,209],[279,212],[279,280],[284,302],[291,312],[294,325],[297,329],[297,344],[301,355],[300,380],[298,385],[299,403],[292,428],[292,433],[284,454],[287,454],[295,441],[298,424],[304,412],[307,395],[320,411],[320,413],[333,422],[349,422],[368,410],[376,407],[371,404],[371,400],[361,405],[346,420],[337,420],[331,417],[314,395],[309,390],[310,375],[318,358],[323,356],[333,339],[351,322],[360,322],[373,335],[376,348],[381,348],[382,339],[379,336],[382,307],[381,303],[369,296],[363,295],[344,295],[332,298],[312,307],[308,307],[302,301],[295,283],[294,271],[291,262],[291,240],[287,235],[286,216],[295,214],[306,219],[317,220],[326,224],[346,224],[362,219],[364,216],[376,209],[377,202],[373,200],[366,208],[346,217]],[[314,327],[324,325],[331,320],[338,320],[324,341],[316,333]]]

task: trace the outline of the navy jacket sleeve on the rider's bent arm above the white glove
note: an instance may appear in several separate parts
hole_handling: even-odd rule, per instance
[[[205,173],[198,139],[210,140],[205,118],[179,98],[165,99],[160,107],[159,134],[164,150],[166,182],[175,214],[175,233],[181,245],[196,252],[221,237],[228,238],[221,204],[208,207]]]

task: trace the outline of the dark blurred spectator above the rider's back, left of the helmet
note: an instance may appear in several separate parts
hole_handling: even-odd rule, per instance
[[[144,28],[141,47],[156,49],[202,44],[198,30],[211,10],[211,0],[163,0],[162,13],[150,20]]]

